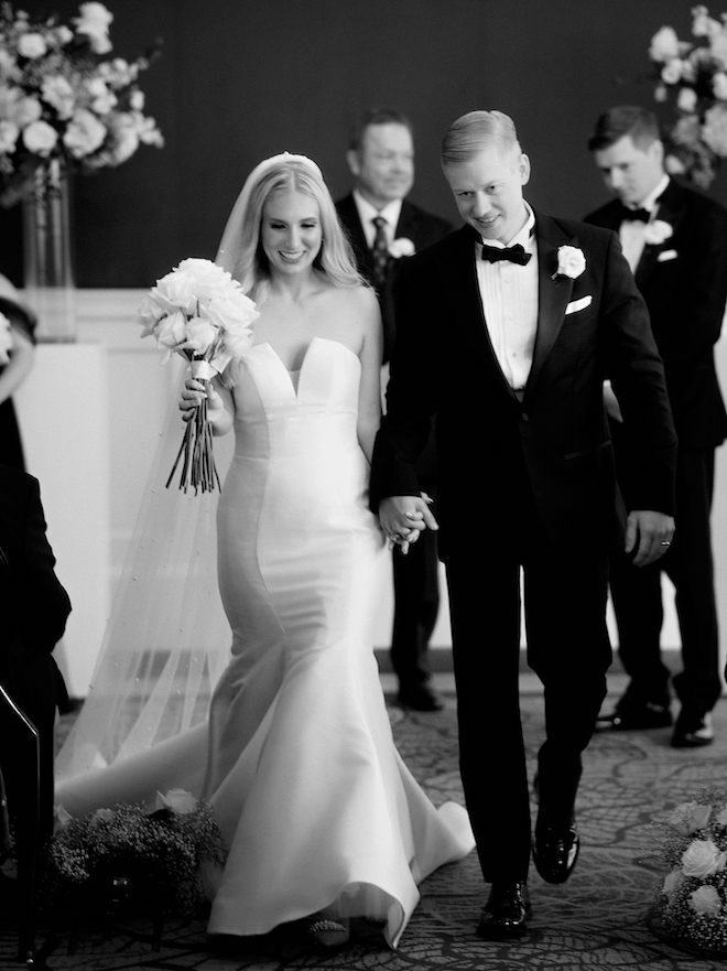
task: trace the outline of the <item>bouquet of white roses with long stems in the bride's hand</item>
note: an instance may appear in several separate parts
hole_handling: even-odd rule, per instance
[[[210,260],[187,259],[156,281],[139,308],[142,337],[153,336],[164,352],[162,364],[172,354],[189,362],[192,376],[205,384],[251,346],[251,324],[259,316],[254,303],[232,277]],[[219,476],[215,468],[213,435],[204,398],[187,422],[170,483],[184,456],[180,488],[211,492]]]

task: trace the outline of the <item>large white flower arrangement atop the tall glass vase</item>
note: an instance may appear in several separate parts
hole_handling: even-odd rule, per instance
[[[94,172],[164,144],[137,83],[159,45],[133,62],[109,57],[112,20],[102,3],[82,3],[70,25],[0,7],[0,204],[29,194],[39,166]]]

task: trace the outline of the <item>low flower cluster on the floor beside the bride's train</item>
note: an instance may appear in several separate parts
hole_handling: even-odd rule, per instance
[[[75,819],[58,807],[58,828],[42,870],[42,898],[53,908],[87,889],[99,899],[128,882],[140,909],[191,916],[204,899],[202,863],[223,864],[227,851],[206,802],[182,789],[159,796],[159,808],[119,805]]]

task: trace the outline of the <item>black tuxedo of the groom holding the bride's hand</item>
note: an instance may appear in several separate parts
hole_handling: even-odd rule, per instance
[[[474,230],[465,226],[405,261],[371,478],[375,506],[417,495],[413,463],[436,414],[460,766],[486,880],[525,880],[530,855],[518,708],[521,567],[528,658],[545,686],[541,812],[554,823],[569,819],[580,752],[606,690],[607,560],[623,536],[606,374],[639,456],[633,508],[671,515],[674,501],[663,366],[618,238],[541,214],[535,233],[538,331],[522,400],[489,339]],[[585,256],[576,279],[557,273],[563,246]]]

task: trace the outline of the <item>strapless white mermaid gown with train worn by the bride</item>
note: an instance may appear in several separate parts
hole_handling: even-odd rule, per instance
[[[235,389],[235,457],[218,508],[232,657],[208,722],[61,784],[74,816],[182,787],[229,846],[208,930],[265,934],[332,906],[386,921],[395,946],[416,884],[474,846],[397,752],[371,650],[382,551],[357,435],[360,364],[315,338],[297,387],[268,344]]]

